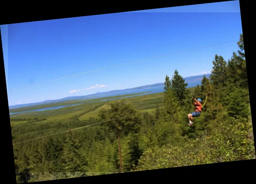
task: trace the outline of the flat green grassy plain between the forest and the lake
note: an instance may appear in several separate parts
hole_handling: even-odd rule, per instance
[[[194,91],[194,88],[189,88],[191,92]],[[145,93],[145,92],[144,92]],[[61,106],[61,105],[73,105],[73,104],[79,104],[76,106],[67,106],[60,109],[53,109],[53,110],[44,110],[44,111],[36,111],[36,112],[29,112],[29,113],[21,113],[21,114],[15,114],[10,115],[10,118],[44,118],[46,120],[43,121],[37,121],[37,122],[28,122],[28,121],[11,121],[13,125],[21,125],[21,124],[38,124],[38,123],[48,123],[48,122],[58,122],[59,120],[65,120],[68,121],[70,118],[78,117],[80,121],[88,120],[90,117],[97,118],[99,110],[105,108],[109,109],[111,102],[111,99],[115,98],[122,98],[122,97],[129,97],[133,95],[139,95],[144,93],[134,93],[129,95],[118,95],[114,97],[102,97],[102,98],[96,98],[96,99],[87,99],[82,101],[77,100],[70,100],[67,102],[62,103],[55,103],[55,106]],[[102,101],[102,100],[109,100],[109,101]],[[135,96],[135,97],[129,97],[126,98],[127,102],[132,103],[137,110],[140,112],[142,111],[148,111],[149,113],[153,113],[154,108],[157,107],[157,105],[161,106],[164,100],[164,94],[161,93],[154,93],[154,94],[147,94],[142,96]],[[43,106],[40,106],[40,108],[49,108],[52,107],[53,104],[45,104]],[[25,111],[25,110],[35,110],[38,109],[39,106],[33,106],[33,107],[27,107],[27,108],[19,108],[19,109],[13,109],[11,112],[18,112],[18,111]]]

